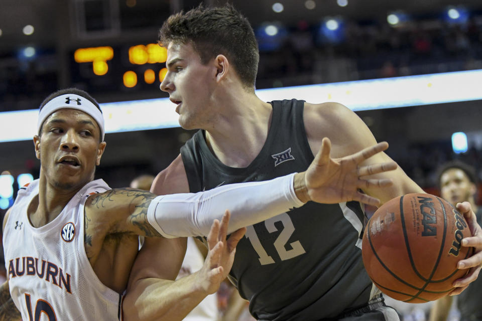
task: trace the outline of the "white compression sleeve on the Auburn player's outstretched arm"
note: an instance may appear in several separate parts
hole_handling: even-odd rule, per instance
[[[161,195],[151,201],[149,223],[166,238],[207,236],[214,219],[231,212],[228,233],[302,206],[294,174],[271,181],[230,184],[199,193]]]

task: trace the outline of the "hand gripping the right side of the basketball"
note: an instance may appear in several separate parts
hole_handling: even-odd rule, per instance
[[[457,268],[470,268],[467,274],[455,280],[453,286],[456,289],[452,290],[449,295],[460,294],[470,282],[475,281],[482,268],[482,228],[477,223],[475,213],[473,213],[470,203],[463,202],[457,204],[457,210],[463,214],[463,217],[467,221],[468,227],[470,229],[471,237],[466,237],[462,239],[462,246],[473,247],[473,254],[465,260],[460,260],[457,263]]]

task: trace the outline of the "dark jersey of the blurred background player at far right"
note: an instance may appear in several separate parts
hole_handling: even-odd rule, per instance
[[[478,224],[482,225],[482,207],[479,207],[475,214]],[[480,294],[482,294],[482,277],[479,276],[457,297],[461,320],[482,320]]]

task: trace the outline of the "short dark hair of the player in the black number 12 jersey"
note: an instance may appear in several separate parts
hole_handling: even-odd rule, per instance
[[[246,88],[254,89],[258,42],[248,19],[230,4],[216,8],[199,5],[171,15],[159,30],[159,44],[167,47],[170,42],[191,42],[203,64],[219,54],[226,56]]]

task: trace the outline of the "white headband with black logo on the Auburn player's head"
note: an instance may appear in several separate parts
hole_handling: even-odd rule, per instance
[[[64,108],[78,109],[94,118],[99,125],[102,141],[104,141],[105,130],[104,117],[102,116],[102,112],[90,100],[75,94],[65,94],[55,97],[54,99],[46,103],[42,107],[42,109],[40,109],[39,120],[37,121],[38,132],[40,133],[40,128],[42,127],[42,124],[48,116],[50,116],[55,111]]]

